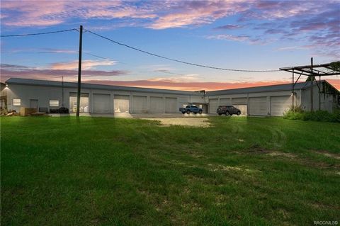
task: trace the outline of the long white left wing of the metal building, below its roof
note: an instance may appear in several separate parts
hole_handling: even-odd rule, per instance
[[[77,109],[77,83],[11,78],[5,91],[8,110]],[[81,113],[178,113],[183,105],[203,102],[203,94],[192,91],[81,84],[79,108]]]

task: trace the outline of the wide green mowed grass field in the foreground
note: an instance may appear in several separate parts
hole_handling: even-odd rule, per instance
[[[1,118],[1,225],[340,220],[340,124]]]

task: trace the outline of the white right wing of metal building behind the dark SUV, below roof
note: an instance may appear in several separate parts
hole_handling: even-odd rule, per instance
[[[319,89],[314,82],[300,82],[295,84],[294,105],[301,106],[305,111],[321,110],[333,111],[339,107],[340,92],[327,81],[321,81],[321,89],[329,87],[332,93]],[[312,89],[312,101],[311,101]],[[327,89],[327,90],[329,90]],[[242,89],[229,89],[208,92],[209,110],[212,113],[219,105],[233,105],[246,115],[273,115],[280,116],[293,105],[292,84],[280,84],[273,86],[258,86]],[[311,105],[313,103],[313,105]]]

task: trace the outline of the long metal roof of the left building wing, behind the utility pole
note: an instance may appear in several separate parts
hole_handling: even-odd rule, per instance
[[[22,84],[30,86],[57,86],[62,87],[62,81],[48,81],[38,79],[21,79],[21,78],[10,78],[6,81],[7,84]],[[64,81],[64,88],[77,88],[77,82],[66,82]],[[144,93],[162,93],[162,94],[181,94],[181,95],[193,95],[203,96],[203,94],[195,91],[177,91],[171,89],[151,89],[151,88],[140,88],[132,86],[111,86],[101,84],[89,84],[81,83],[81,89],[106,89],[115,91],[135,91]]]

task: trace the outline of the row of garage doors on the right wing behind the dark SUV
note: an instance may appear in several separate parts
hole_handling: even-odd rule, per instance
[[[271,96],[268,98],[270,106],[267,105],[267,97],[250,97],[249,106],[247,105],[246,98],[220,98],[220,105],[232,105],[239,108],[242,114],[246,115],[283,115],[290,107],[292,100],[290,96]],[[216,113],[218,107],[218,99],[209,100],[210,113]],[[248,106],[248,108],[247,108]],[[248,111],[248,112],[246,112]]]

